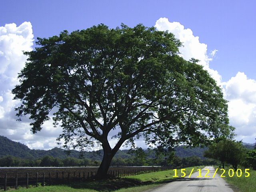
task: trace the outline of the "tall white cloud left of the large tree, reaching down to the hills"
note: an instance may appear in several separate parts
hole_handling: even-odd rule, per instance
[[[44,131],[32,134],[28,118],[22,118],[22,122],[16,121],[14,108],[19,102],[13,100],[11,93],[18,84],[18,72],[27,59],[23,51],[32,50],[33,38],[30,22],[24,22],[20,26],[14,23],[0,26],[0,135],[26,144],[32,149],[49,149],[56,146],[60,128],[52,129],[52,124],[46,122]]]

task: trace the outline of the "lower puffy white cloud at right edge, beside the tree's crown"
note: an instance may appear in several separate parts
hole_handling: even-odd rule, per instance
[[[236,127],[237,139],[253,142],[256,138],[256,80],[238,72],[224,85],[230,124]]]

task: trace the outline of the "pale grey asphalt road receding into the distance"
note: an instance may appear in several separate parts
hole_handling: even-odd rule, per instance
[[[208,168],[210,172],[207,174],[210,177],[204,177],[206,174],[206,169]],[[195,170],[196,171],[196,170]],[[218,174],[212,178],[214,175],[214,168],[212,166],[204,167],[201,171],[203,177],[199,178],[198,171],[194,172],[190,178],[186,176],[185,178],[180,178],[176,181],[165,184],[159,188],[152,190],[151,192],[233,192],[231,188],[223,178]]]

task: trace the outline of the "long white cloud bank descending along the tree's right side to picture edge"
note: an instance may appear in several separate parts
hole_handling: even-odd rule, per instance
[[[236,127],[237,140],[252,143],[256,138],[256,81],[248,79],[246,74],[238,72],[227,82],[222,82],[218,71],[210,68],[210,61],[214,59],[218,50],[207,51],[207,44],[201,43],[198,36],[194,36],[191,29],[186,29],[179,22],[169,22],[167,18],[156,21],[158,30],[168,30],[178,38],[183,47],[180,47],[181,56],[189,60],[195,58],[200,60],[199,64],[204,66],[218,85],[222,86],[224,97],[228,102],[228,114],[230,125]]]

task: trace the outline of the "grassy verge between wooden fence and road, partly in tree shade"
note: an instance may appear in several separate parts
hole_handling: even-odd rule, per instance
[[[189,174],[192,168],[198,169],[204,166],[186,168]],[[181,175],[180,169],[177,175]],[[136,176],[128,176],[122,179],[102,180],[73,183],[69,185],[39,186],[31,188],[19,188],[17,192],[142,192],[150,188],[170,182],[176,177],[173,170],[152,172]]]

